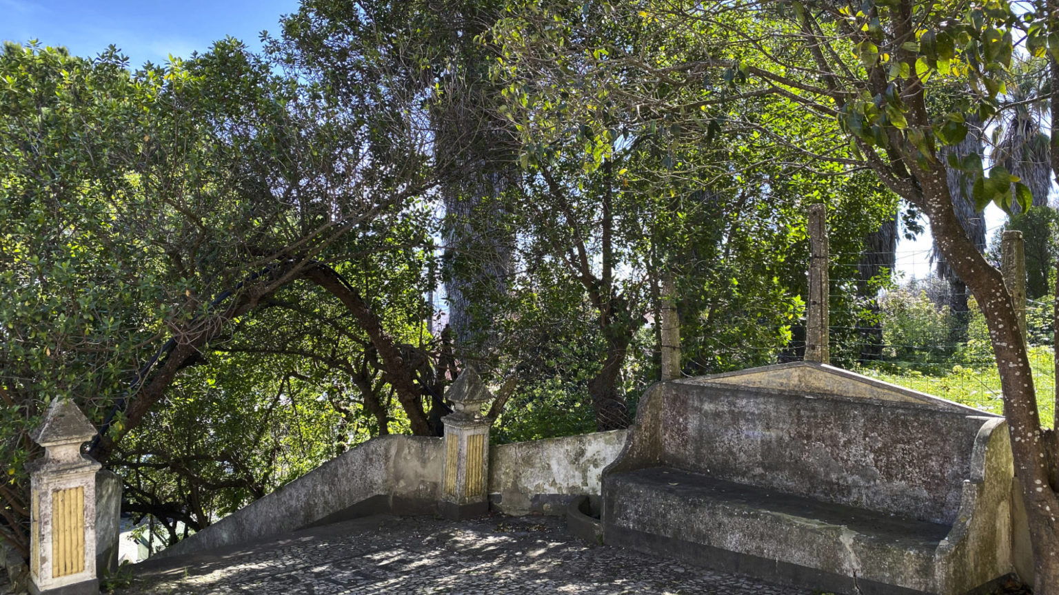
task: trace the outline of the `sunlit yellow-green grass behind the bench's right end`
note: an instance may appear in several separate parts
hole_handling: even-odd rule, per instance
[[[1045,427],[1055,419],[1055,358],[1052,349],[1038,346],[1029,349],[1029,366],[1037,390],[1037,407]],[[913,389],[929,395],[956,401],[989,413],[1003,413],[1000,374],[995,365],[925,364],[883,362],[856,368],[856,372],[884,382]]]

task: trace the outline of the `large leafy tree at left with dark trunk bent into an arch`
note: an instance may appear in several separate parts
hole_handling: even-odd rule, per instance
[[[101,426],[93,456],[107,459],[141,426],[166,422],[166,413],[179,418],[179,401],[166,400],[173,382],[213,363],[219,344],[246,332],[247,321],[283,302],[281,290],[294,283],[341,299],[412,429],[431,433],[421,400],[430,379],[407,365],[401,337],[373,311],[389,280],[359,275],[377,283],[367,298],[347,280],[373,254],[416,262],[417,247],[429,244],[429,230],[416,223],[441,169],[424,150],[428,131],[403,116],[410,97],[382,76],[338,110],[313,73],[299,68],[290,53],[255,56],[231,39],[136,73],[113,49],[89,60],[4,48],[0,394],[8,407],[0,457],[8,482],[0,534],[23,555],[25,468],[39,454],[29,430],[42,408],[75,399]],[[362,109],[348,109],[356,102]],[[398,294],[409,287],[389,286]],[[358,369],[375,390],[370,372]],[[294,398],[291,385],[284,391]],[[254,390],[239,396],[267,407],[271,395]],[[179,441],[157,452],[147,438],[133,436],[115,463],[179,464],[189,482],[216,486],[181,459],[199,453]],[[227,464],[250,468],[244,458]],[[261,472],[239,475],[255,495],[272,484]],[[165,504],[160,494],[143,502]]]

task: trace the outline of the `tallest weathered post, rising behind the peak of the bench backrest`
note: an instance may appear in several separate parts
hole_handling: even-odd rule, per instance
[[[805,361],[828,363],[827,208],[809,205],[809,304],[805,324]]]

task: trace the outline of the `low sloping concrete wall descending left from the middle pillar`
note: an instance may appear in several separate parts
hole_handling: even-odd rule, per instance
[[[155,557],[250,543],[303,527],[388,512],[436,510],[442,438],[372,438]]]

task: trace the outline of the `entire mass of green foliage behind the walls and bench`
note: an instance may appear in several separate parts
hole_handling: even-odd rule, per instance
[[[912,4],[901,37],[890,1],[306,0],[262,55],[227,39],[130,72],[114,50],[6,47],[0,537],[24,541],[28,431],[56,397],[114,412],[108,463],[176,540],[176,521],[201,528],[369,437],[438,431],[469,363],[519,378],[499,441],[590,431],[600,403],[628,414],[659,377],[670,275],[684,374],[791,357],[812,203],[836,362],[881,320],[874,373],[988,377],[981,314],[957,347],[946,309],[852,263],[898,194],[934,204],[915,193],[997,113],[1012,32],[1037,54],[1049,35],[1003,2]],[[1025,212],[1003,164],[947,165],[980,206]],[[1040,239],[1042,299],[1055,223],[1011,223]],[[320,263],[330,293],[308,282]],[[474,327],[455,345],[426,324],[443,280]],[[1031,343],[1051,324],[1034,308]]]

